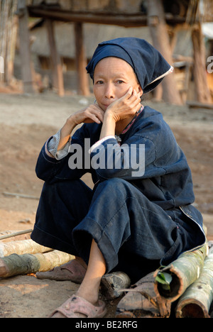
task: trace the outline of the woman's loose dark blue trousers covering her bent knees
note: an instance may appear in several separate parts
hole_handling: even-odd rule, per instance
[[[135,282],[192,249],[195,236],[180,209],[164,211],[133,184],[113,178],[95,190],[80,179],[45,182],[31,238],[85,262],[94,238],[107,272],[122,270]]]

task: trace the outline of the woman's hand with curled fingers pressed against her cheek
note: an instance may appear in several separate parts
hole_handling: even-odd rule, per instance
[[[105,115],[111,115],[115,122],[131,118],[141,108],[141,94],[132,87],[120,99],[117,99],[107,107]]]

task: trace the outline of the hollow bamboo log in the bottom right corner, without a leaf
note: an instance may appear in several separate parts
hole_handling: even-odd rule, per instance
[[[204,260],[200,277],[187,288],[178,301],[177,318],[209,318],[213,301],[213,248]]]

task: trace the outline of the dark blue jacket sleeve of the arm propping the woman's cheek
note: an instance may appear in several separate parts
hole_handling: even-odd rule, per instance
[[[148,179],[187,169],[185,155],[164,121],[144,124],[121,145],[109,137],[91,148],[92,167],[99,180],[121,177]]]

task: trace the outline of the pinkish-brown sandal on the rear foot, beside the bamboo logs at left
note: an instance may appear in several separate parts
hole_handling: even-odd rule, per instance
[[[70,260],[61,266],[54,267],[53,270],[47,272],[37,272],[35,275],[38,279],[48,279],[57,281],[71,281],[76,284],[81,284],[86,273],[83,267],[77,260]]]

